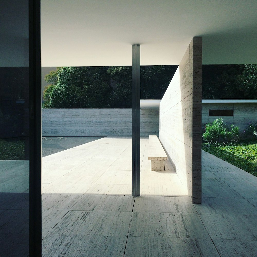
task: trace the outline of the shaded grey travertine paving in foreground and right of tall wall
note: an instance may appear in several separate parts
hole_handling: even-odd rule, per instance
[[[257,178],[204,151],[202,168],[202,204],[183,196],[44,194],[43,256],[255,257]]]

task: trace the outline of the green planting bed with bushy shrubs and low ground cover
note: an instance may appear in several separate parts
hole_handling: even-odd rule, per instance
[[[249,122],[241,135],[233,125],[229,131],[221,118],[203,125],[202,149],[257,177],[256,124]]]

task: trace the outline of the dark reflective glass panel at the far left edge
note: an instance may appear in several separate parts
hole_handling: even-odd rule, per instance
[[[29,2],[0,2],[0,256],[29,255]]]

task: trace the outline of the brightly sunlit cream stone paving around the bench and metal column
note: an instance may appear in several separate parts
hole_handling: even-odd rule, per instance
[[[188,196],[170,161],[151,171],[148,137],[140,140],[141,195]],[[131,137],[104,137],[42,158],[42,193],[131,195]]]

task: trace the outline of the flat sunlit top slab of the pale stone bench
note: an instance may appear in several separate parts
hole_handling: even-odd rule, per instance
[[[166,152],[157,137],[149,135],[148,160],[149,161],[166,161],[168,159]]]

